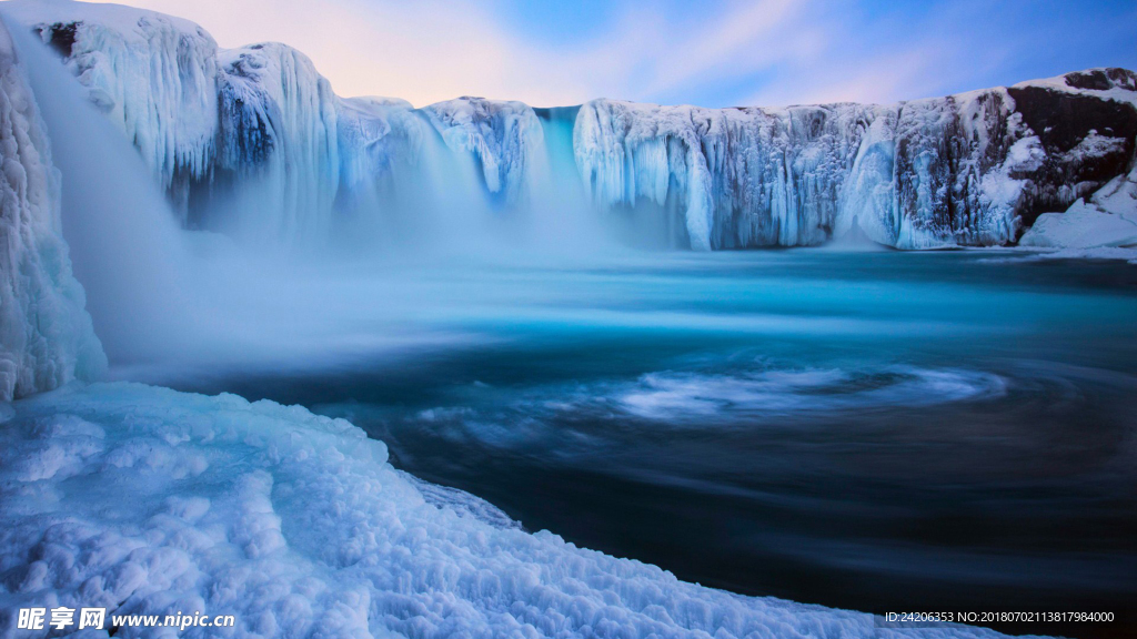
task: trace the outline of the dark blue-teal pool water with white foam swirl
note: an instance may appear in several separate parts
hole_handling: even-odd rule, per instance
[[[1137,631],[1137,266],[794,250],[417,277],[407,322],[464,339],[175,385],[347,417],[530,530],[707,586]]]

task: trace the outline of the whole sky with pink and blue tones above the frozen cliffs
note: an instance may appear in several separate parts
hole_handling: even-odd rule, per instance
[[[418,106],[465,94],[536,106],[888,102],[1137,68],[1137,0],[126,3],[193,19],[226,47],[292,44],[341,94]]]

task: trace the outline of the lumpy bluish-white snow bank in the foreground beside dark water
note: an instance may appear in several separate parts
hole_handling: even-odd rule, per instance
[[[299,407],[125,383],[14,406],[0,429],[2,637],[36,636],[14,630],[14,609],[57,605],[234,614],[233,637],[905,636],[525,533]]]

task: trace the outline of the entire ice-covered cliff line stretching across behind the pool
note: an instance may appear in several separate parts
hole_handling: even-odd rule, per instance
[[[449,152],[476,163],[473,200],[537,208],[568,192],[540,197],[549,171],[573,173],[581,201],[564,215],[633,211],[695,249],[849,232],[905,249],[1010,244],[1126,173],[1137,136],[1137,75],[1090,69],[889,106],[596,100],[575,111],[570,149],[548,144],[550,118],[521,102],[368,105],[332,94],[285,45],[222,50],[191,23],[123,7],[9,5],[66,56],[188,224],[264,241],[318,241],[343,221],[390,215],[392,200],[454,189],[460,180],[430,168]],[[418,175],[393,179],[400,168]],[[392,192],[405,182],[417,191]]]

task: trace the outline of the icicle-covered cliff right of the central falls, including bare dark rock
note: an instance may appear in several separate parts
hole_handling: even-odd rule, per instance
[[[893,106],[702,109],[598,100],[575,126],[605,206],[679,215],[695,248],[816,244],[854,225],[910,249],[1006,244],[1123,172],[1131,72]]]

